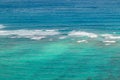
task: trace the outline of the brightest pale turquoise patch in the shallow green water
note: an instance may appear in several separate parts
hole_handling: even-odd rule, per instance
[[[43,45],[41,49],[32,52],[32,56],[25,55],[22,60],[49,60],[67,52],[68,46],[63,43],[49,43]]]

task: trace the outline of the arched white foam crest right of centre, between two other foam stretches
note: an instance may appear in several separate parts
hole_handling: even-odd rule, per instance
[[[90,37],[90,38],[97,38],[98,37],[97,34],[89,33],[89,32],[83,32],[83,31],[71,31],[68,35],[69,36],[77,36],[77,37],[87,36],[87,37]]]

